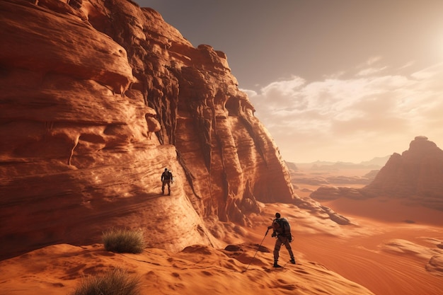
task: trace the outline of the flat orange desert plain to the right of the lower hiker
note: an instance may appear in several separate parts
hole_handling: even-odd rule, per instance
[[[362,176],[367,172],[323,174]],[[301,184],[297,195],[308,196],[306,188],[315,190],[316,186]],[[293,228],[298,236],[292,247],[304,259],[320,262],[374,294],[442,294],[443,249],[439,247],[443,247],[443,212],[381,197],[364,201],[340,198],[321,204],[351,219],[355,226],[309,234],[309,229],[303,229],[306,224],[296,220]],[[438,267],[430,265],[431,258]]]

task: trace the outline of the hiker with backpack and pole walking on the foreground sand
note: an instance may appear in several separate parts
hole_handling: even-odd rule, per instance
[[[278,265],[278,258],[280,247],[282,246],[282,244],[287,248],[289,256],[291,256],[290,262],[293,265],[295,264],[294,253],[292,253],[291,245],[289,245],[289,243],[292,242],[291,228],[289,227],[289,222],[286,219],[280,217],[280,213],[275,213],[275,219],[272,221],[272,225],[267,226],[268,230],[274,230],[271,235],[272,238],[277,237],[277,241],[275,241],[274,247],[274,267],[281,267],[280,265]]]

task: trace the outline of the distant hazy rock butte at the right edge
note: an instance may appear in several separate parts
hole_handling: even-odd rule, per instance
[[[408,151],[393,154],[362,192],[403,197],[443,210],[443,151],[427,137],[415,137]]]

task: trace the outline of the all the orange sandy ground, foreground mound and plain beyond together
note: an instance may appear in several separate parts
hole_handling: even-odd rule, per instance
[[[306,197],[315,189],[301,184],[296,192]],[[352,225],[292,204],[262,204],[260,214],[248,216],[251,226],[224,225],[223,246],[236,245],[229,251],[195,245],[134,255],[109,253],[101,244],[52,245],[0,261],[0,294],[69,294],[82,277],[113,267],[139,276],[142,294],[442,294],[443,212],[381,198],[322,204]],[[291,222],[297,260],[289,264],[282,247],[278,270],[275,240],[265,236],[275,212]]]

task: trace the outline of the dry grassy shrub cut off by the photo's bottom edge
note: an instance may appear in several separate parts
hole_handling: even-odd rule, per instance
[[[139,277],[115,268],[105,274],[85,277],[70,295],[139,295],[140,287]]]

